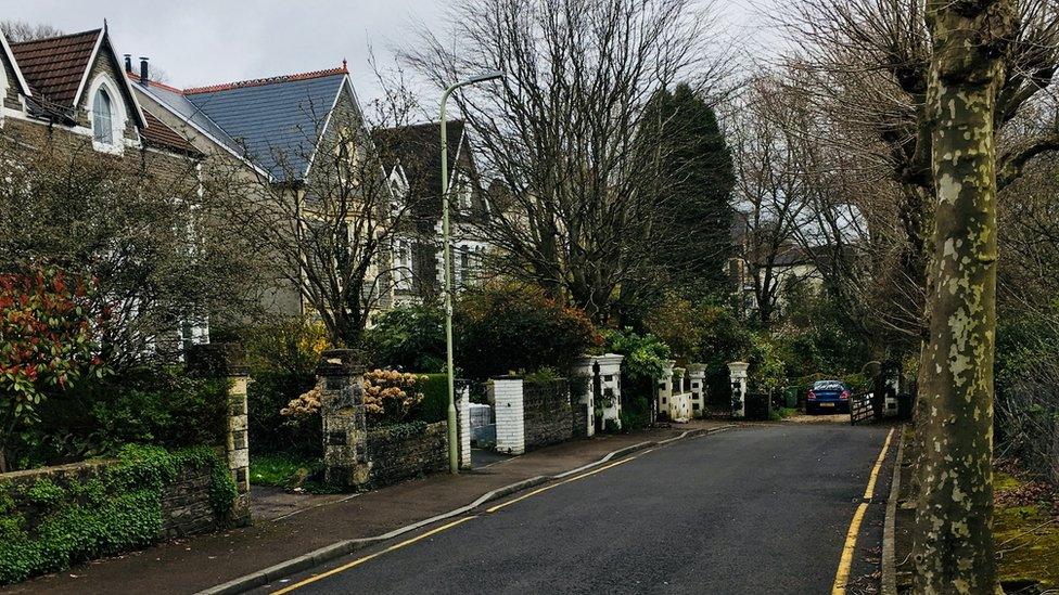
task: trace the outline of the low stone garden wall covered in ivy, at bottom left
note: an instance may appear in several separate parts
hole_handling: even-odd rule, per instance
[[[248,522],[226,457],[126,447],[116,460],[0,475],[0,584]]]

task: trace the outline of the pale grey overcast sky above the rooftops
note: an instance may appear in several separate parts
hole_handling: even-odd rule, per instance
[[[758,0],[718,0],[735,37],[760,37]],[[773,0],[768,0],[773,1]],[[378,87],[369,48],[385,66],[418,25],[444,17],[447,0],[0,0],[0,18],[66,33],[110,26],[118,55],[149,56],[177,87],[319,70],[349,62],[362,101]]]

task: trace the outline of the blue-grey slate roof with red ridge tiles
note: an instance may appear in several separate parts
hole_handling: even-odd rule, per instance
[[[296,180],[306,173],[346,75],[343,66],[181,92],[162,88],[155,96],[273,179]]]

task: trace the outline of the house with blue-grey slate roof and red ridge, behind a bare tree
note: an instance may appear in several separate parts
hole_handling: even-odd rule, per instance
[[[231,167],[230,176],[246,182],[243,187],[250,202],[256,199],[255,193],[286,193],[290,204],[298,209],[286,214],[289,224],[298,225],[294,235],[312,233],[314,221],[324,219],[314,219],[314,210],[324,210],[322,205],[333,197],[332,192],[358,184],[348,178],[358,178],[362,172],[347,178],[344,167],[366,161],[363,150],[371,139],[363,130],[360,106],[344,62],[336,68],[188,89],[151,80],[145,63],[141,63],[139,73],[132,72],[131,64],[127,70],[140,101],[157,109],[168,126],[180,130],[199,151],[209,155],[214,167]],[[331,167],[336,161],[345,165]],[[363,174],[378,174],[381,181],[382,170],[377,169],[370,171],[366,165]],[[374,198],[380,208],[366,206],[363,212],[348,216],[346,229],[350,238],[359,237],[358,233],[372,237],[383,233],[387,212],[382,205],[391,201],[388,186],[382,185],[385,196]],[[350,201],[368,201],[365,187],[358,191],[359,197]],[[298,223],[293,222],[295,219]],[[303,224],[304,221],[308,223]],[[365,221],[372,223],[371,231],[358,225]],[[371,308],[385,309],[393,300],[390,250],[378,254],[378,261],[368,272],[368,283],[374,292]],[[289,256],[272,260],[286,269],[278,269],[275,282],[263,289],[265,309],[279,315],[317,312],[306,298],[306,293],[314,290],[306,281],[314,274],[311,262],[292,264]],[[295,267],[297,272],[292,272]],[[301,288],[292,281],[295,276],[302,280]]]

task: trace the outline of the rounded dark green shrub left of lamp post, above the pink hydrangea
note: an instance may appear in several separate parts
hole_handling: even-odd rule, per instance
[[[365,333],[365,349],[378,367],[443,371],[445,313],[429,306],[394,308]]]

